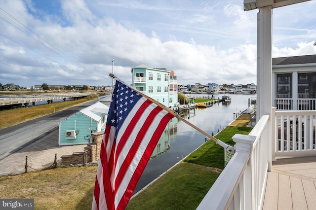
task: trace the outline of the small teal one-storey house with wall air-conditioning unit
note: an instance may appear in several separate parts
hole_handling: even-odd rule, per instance
[[[90,105],[59,123],[59,145],[91,142],[91,133],[105,130],[109,106],[101,102]]]

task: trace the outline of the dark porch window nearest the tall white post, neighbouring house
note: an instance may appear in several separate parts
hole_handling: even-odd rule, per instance
[[[276,74],[276,98],[292,98],[292,74]]]

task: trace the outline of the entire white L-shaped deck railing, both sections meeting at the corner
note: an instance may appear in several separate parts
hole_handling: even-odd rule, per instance
[[[271,117],[262,116],[249,135],[233,137],[235,154],[197,209],[262,209],[273,158],[316,154],[315,127],[315,111],[272,108]]]

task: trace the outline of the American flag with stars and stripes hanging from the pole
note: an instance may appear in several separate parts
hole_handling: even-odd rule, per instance
[[[116,81],[101,145],[93,210],[125,209],[164,128],[173,117]]]

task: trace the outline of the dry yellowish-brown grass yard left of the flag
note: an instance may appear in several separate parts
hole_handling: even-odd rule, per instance
[[[97,166],[0,177],[0,198],[33,198],[36,210],[91,209]]]

